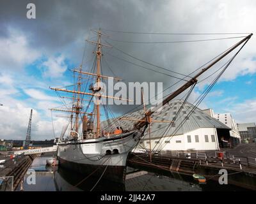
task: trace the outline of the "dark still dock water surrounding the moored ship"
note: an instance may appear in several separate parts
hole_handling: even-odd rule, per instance
[[[214,180],[199,184],[188,175],[179,173],[149,172],[127,168],[129,179],[125,184],[99,180],[99,178],[79,175],[63,168],[45,166],[48,157],[36,157],[31,165],[35,170],[36,183],[28,184],[28,175],[24,177],[24,191],[247,191],[234,185],[220,185]],[[140,176],[134,177],[133,171]],[[17,188],[20,191],[20,186]]]

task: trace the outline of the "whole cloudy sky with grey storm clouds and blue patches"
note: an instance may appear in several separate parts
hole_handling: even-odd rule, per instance
[[[36,18],[28,19],[28,3],[36,6]],[[91,29],[102,29],[104,75],[124,82],[163,82],[169,87],[180,75],[148,66],[119,52],[136,56],[157,66],[188,74],[242,38],[191,43],[127,43],[127,41],[188,41],[246,36],[233,35],[157,35],[140,33],[255,33],[256,1],[0,1],[0,138],[24,140],[30,110],[33,109],[32,140],[51,140],[61,133],[65,118],[51,114],[49,108],[61,106],[60,98],[49,87],[72,83],[69,69],[83,64],[89,70],[93,62],[92,43],[96,35]],[[256,122],[256,40],[239,52],[218,83],[200,104],[216,113],[230,112],[236,122]],[[125,42],[126,41],[126,42]],[[116,49],[117,48],[117,49]],[[234,53],[233,53],[234,54]],[[83,58],[84,55],[84,58]],[[216,64],[202,80],[214,73],[232,55]],[[118,59],[119,58],[119,59]],[[84,61],[83,61],[84,59]],[[146,66],[164,74],[146,71]],[[83,61],[83,62],[82,62]],[[111,69],[110,69],[110,68]],[[196,85],[189,101],[193,103],[216,77]],[[173,89],[174,91],[180,82]],[[113,107],[120,115],[131,106]],[[54,131],[53,128],[54,127]]]

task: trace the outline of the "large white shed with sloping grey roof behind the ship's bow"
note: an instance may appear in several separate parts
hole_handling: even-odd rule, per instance
[[[163,122],[152,122],[150,138],[147,128],[138,149],[150,149],[151,143],[152,150],[219,150],[221,138],[230,140],[228,126],[190,103],[185,103],[184,106],[182,103],[181,100],[169,102],[161,112],[152,115],[152,120]],[[188,117],[189,112],[191,115]],[[143,110],[123,115],[130,119],[141,119],[143,116]],[[109,122],[113,123],[113,119],[111,120]],[[174,122],[166,122],[171,120]],[[132,120],[119,121],[119,126],[124,130],[131,129],[134,124]],[[107,127],[108,121],[102,122],[102,128]]]

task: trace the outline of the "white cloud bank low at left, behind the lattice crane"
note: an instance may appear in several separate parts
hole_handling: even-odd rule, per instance
[[[0,138],[12,140],[25,140],[28,128],[29,114],[31,107],[17,103],[10,107],[0,107]],[[60,135],[61,127],[67,124],[66,119],[54,118],[54,129],[56,136]],[[32,140],[51,140],[54,138],[51,120],[42,119],[42,115],[33,109],[31,124]]]

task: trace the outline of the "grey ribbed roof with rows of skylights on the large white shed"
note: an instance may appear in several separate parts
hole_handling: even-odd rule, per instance
[[[182,107],[179,115],[177,112],[179,111],[180,107],[182,106],[182,100],[173,100],[168,104],[163,106],[161,112],[156,112],[152,115],[153,120],[173,120],[176,118],[174,124],[171,128],[170,123],[166,122],[152,122],[151,128],[151,137],[157,137],[164,135],[182,135],[184,133],[188,133],[198,128],[220,128],[220,129],[230,129],[228,126],[223,124],[222,122],[210,117],[206,113],[204,113],[200,108],[195,108],[193,113],[188,117],[186,122],[181,126],[180,124],[184,121],[185,117],[187,117],[188,113],[193,109],[193,105],[191,103],[185,103]],[[144,111],[138,110],[133,113],[128,113],[122,115],[122,117],[127,117],[130,119],[141,119],[144,116]],[[113,119],[110,119],[109,122],[113,124]],[[120,120],[120,124],[116,123],[116,126],[122,126],[123,129],[131,129],[133,124],[136,121],[132,120]],[[180,128],[177,128],[179,127]],[[108,131],[108,121],[102,122],[102,128]],[[115,129],[115,126],[111,128],[111,131]],[[168,132],[166,133],[165,131]],[[148,128],[145,133],[145,137],[147,137]]]

